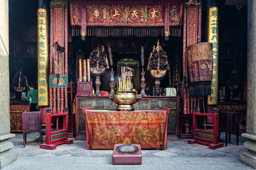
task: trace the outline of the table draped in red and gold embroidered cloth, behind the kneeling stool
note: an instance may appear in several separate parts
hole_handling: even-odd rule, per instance
[[[167,148],[170,108],[161,110],[92,110],[83,108],[86,149],[113,150],[115,144],[138,143],[141,149]]]

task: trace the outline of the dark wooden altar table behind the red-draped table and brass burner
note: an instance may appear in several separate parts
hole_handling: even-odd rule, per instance
[[[83,108],[93,110],[115,110],[117,104],[108,97],[76,96],[76,139],[86,139]],[[168,140],[178,140],[179,134],[179,97],[175,96],[142,96],[142,99],[133,104],[135,110],[161,110],[170,108],[167,126]]]

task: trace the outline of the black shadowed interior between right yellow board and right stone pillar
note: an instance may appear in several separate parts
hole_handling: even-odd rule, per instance
[[[230,99],[230,87],[238,85],[233,98],[243,99],[246,82],[247,56],[247,6],[220,6],[220,60],[219,87],[226,87]],[[236,72],[236,74],[232,74]],[[234,82],[235,81],[235,82]]]

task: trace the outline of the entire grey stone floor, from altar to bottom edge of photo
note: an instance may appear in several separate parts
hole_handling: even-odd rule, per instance
[[[39,148],[35,139],[38,133],[28,134],[28,145],[23,148],[22,134],[10,141],[17,153],[17,161],[9,169],[252,169],[239,161],[239,155],[246,151],[241,137],[239,146],[231,141],[228,146],[210,150],[208,146],[188,143],[188,139],[168,141],[164,150],[142,150],[142,164],[112,165],[113,150],[86,150],[86,141],[75,140],[71,145],[59,145],[56,150]],[[234,136],[233,136],[234,138]],[[222,139],[222,138],[221,138]],[[225,139],[225,138],[223,138]],[[235,138],[234,138],[235,139]]]

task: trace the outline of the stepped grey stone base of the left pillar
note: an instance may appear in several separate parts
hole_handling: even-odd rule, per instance
[[[9,152],[9,150],[13,147],[13,143],[8,141],[8,139],[14,136],[15,134],[0,135],[0,169],[17,160],[16,153]]]

